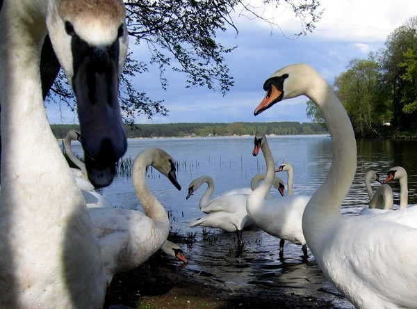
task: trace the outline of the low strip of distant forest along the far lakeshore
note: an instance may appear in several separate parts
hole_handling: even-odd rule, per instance
[[[65,138],[78,125],[51,125],[56,138]],[[327,129],[313,122],[232,122],[232,123],[166,123],[126,125],[128,138],[254,135],[256,132],[275,135],[328,134]]]

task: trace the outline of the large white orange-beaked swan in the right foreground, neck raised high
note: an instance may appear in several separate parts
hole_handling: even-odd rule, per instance
[[[343,105],[306,64],[278,70],[263,88],[267,93],[255,116],[281,100],[306,95],[332,136],[332,165],[302,218],[307,244],[329,282],[357,308],[417,308],[417,207],[342,216],[341,203],[357,168],[356,141]]]

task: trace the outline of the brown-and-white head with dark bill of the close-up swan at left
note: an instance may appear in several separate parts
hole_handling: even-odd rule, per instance
[[[47,28],[78,106],[88,177],[95,187],[113,181],[127,141],[118,102],[126,59],[122,0],[49,1]]]

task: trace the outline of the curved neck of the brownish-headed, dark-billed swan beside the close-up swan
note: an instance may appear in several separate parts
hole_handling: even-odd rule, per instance
[[[170,220],[167,212],[146,184],[146,168],[152,166],[152,157],[152,153],[147,150],[140,152],[136,157],[132,169],[133,188],[145,214],[154,221],[167,224],[169,227]]]

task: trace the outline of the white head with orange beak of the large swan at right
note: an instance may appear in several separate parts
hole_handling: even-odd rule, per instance
[[[306,94],[311,84],[311,74],[317,75],[316,70],[304,63],[288,65],[272,74],[263,84],[266,95],[254,110],[254,116],[277,102]]]

